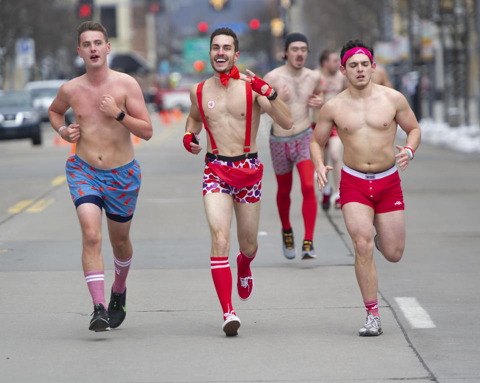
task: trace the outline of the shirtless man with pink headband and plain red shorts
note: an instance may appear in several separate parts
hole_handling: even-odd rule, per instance
[[[360,336],[382,333],[378,315],[378,281],[373,245],[387,261],[398,262],[405,246],[403,195],[396,165],[405,170],[420,143],[421,131],[405,97],[374,84],[373,50],[349,40],[340,53],[348,88],[320,109],[310,154],[318,187],[326,185],[331,166],[323,163],[325,143],[336,125],[343,144],[340,203],[355,251],[355,275],[367,318]],[[395,145],[397,124],[406,133],[405,146]],[[376,231],[376,234],[375,234]]]

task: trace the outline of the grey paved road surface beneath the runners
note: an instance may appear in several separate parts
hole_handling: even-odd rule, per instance
[[[400,174],[403,259],[375,250],[383,335],[360,338],[364,308],[341,212],[318,210],[316,260],[281,253],[267,128],[255,289],[241,302],[238,337],[221,332],[201,197],[203,154],[181,145],[183,119],[155,115],[135,146],[142,186],[132,223],[127,317],[88,331],[91,299],[80,229],[63,180],[69,146],[0,141],[1,382],[480,382],[480,155],[421,145]],[[401,137],[399,137],[401,142]],[[201,143],[205,143],[204,133]],[[291,221],[301,243],[297,175]],[[106,227],[105,290],[113,281]],[[230,263],[238,244],[232,223]]]

